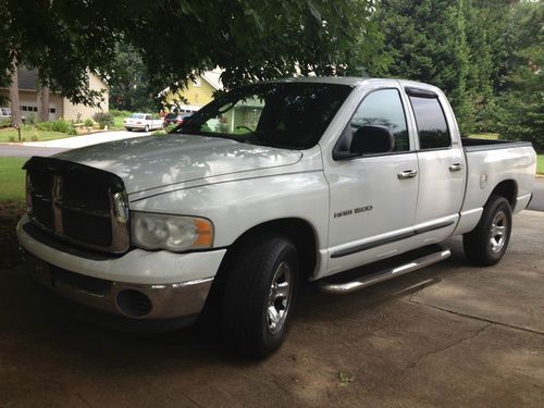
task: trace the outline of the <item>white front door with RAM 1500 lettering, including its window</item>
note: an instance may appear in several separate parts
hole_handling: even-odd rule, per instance
[[[386,152],[325,161],[331,195],[326,274],[392,256],[412,235],[419,169],[400,89],[390,83],[368,92],[335,151],[349,152],[353,135],[364,125],[387,127],[394,146]]]

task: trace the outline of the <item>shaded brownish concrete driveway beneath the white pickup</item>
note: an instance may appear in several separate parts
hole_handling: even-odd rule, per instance
[[[0,273],[0,406],[544,406],[544,213],[493,268],[448,260],[344,297],[308,286],[286,343],[247,361],[188,329],[73,320],[21,264]]]

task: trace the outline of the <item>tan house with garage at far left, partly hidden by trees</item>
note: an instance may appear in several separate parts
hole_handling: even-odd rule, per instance
[[[34,115],[38,118],[38,109],[40,107],[38,91],[38,72],[37,70],[27,70],[21,67],[17,70],[18,76],[18,104],[21,114],[28,119]],[[108,111],[108,85],[103,83],[97,75],[88,74],[89,88],[96,90],[104,90],[104,100],[99,108],[89,108],[84,104],[72,103],[67,98],[64,98],[60,92],[51,90],[49,94],[49,120],[64,119],[66,121],[84,121],[92,118],[96,112]],[[0,88],[0,94],[9,97],[8,88]]]

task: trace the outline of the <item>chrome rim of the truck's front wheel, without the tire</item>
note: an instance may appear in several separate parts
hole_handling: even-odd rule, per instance
[[[293,273],[287,262],[277,267],[270,285],[267,323],[271,334],[280,332],[287,319],[293,294]]]

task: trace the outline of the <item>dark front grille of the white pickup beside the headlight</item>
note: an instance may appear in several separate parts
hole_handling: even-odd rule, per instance
[[[128,249],[128,206],[120,177],[52,158],[32,158],[25,169],[35,224],[84,247],[115,254]]]

